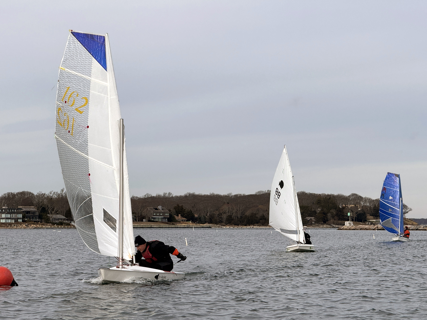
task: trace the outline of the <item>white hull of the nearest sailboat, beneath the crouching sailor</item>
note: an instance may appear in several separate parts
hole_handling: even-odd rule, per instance
[[[99,268],[98,275],[103,282],[128,282],[132,279],[147,279],[153,281],[159,280],[182,280],[184,279],[184,272],[163,271],[158,269],[140,267],[137,265],[128,266],[123,268]]]

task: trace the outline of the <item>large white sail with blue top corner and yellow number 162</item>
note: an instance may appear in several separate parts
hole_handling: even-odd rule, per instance
[[[77,230],[106,256],[119,256],[120,118],[108,35],[71,30],[59,69],[55,138]],[[132,259],[126,148],[123,213],[123,257]]]

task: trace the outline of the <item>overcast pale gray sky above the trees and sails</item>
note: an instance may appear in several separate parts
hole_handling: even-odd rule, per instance
[[[53,137],[68,29],[107,32],[131,193],[425,194],[425,1],[3,1],[0,193],[64,187]],[[52,89],[53,88],[53,89]]]

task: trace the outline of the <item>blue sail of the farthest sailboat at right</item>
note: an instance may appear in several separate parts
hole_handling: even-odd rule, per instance
[[[380,196],[380,221],[389,233],[403,234],[403,201],[400,175],[387,172]]]

